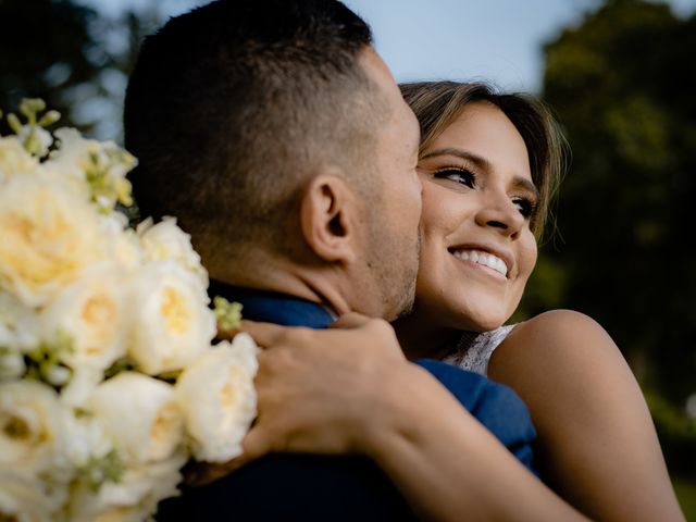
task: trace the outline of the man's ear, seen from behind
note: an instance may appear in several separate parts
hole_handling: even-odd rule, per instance
[[[322,173],[307,185],[300,203],[300,226],[309,247],[328,262],[357,257],[358,201],[338,174]]]

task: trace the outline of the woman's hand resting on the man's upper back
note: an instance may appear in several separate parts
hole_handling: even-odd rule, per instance
[[[330,330],[244,321],[263,349],[256,377],[258,418],[243,456],[206,464],[188,475],[204,484],[272,451],[368,453],[375,431],[391,422],[410,364],[391,326],[358,313]],[[219,337],[228,338],[226,332]]]

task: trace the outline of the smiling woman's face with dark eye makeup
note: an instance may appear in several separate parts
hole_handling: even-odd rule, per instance
[[[423,151],[415,312],[432,326],[487,331],[518,307],[536,263],[538,199],[522,136],[474,102]]]

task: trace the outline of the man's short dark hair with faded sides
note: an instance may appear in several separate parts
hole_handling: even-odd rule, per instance
[[[387,110],[358,63],[371,42],[336,0],[220,0],[170,20],[146,38],[126,92],[141,213],[176,215],[204,262],[284,249],[316,166],[369,170]]]

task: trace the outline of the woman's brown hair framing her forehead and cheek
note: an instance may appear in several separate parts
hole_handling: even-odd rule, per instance
[[[539,190],[531,227],[540,240],[569,152],[566,138],[546,105],[531,95],[497,92],[481,82],[413,82],[399,87],[421,125],[421,151],[459,117],[467,104],[484,101],[500,109],[526,146],[532,181]]]

